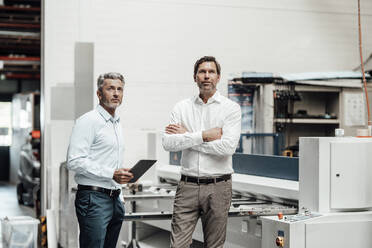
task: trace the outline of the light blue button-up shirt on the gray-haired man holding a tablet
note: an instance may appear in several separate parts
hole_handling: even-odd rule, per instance
[[[112,178],[122,167],[124,143],[120,119],[101,105],[76,120],[67,152],[67,168],[81,185],[121,188]]]

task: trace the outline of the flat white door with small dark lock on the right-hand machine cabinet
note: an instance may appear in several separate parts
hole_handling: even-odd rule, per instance
[[[331,142],[331,208],[372,207],[372,142]]]

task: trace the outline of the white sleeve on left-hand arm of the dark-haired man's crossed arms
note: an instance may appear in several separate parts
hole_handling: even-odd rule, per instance
[[[170,117],[170,124],[181,124],[180,110],[176,106]],[[202,131],[186,132],[183,134],[167,134],[163,133],[162,143],[164,150],[171,152],[178,152],[193,146],[203,143]]]

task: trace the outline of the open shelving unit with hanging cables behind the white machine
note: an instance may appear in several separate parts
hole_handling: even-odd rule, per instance
[[[362,77],[356,71],[234,74],[228,97],[242,110],[240,152],[298,157],[299,137],[331,137],[336,128],[356,135],[367,122]]]

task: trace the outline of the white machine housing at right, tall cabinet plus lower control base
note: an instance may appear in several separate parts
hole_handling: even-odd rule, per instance
[[[300,138],[300,212],[262,217],[262,247],[372,247],[371,149],[371,138]]]

